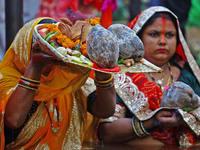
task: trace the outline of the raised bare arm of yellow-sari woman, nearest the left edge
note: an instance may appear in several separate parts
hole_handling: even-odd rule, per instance
[[[24,72],[23,76],[39,81],[42,71],[56,59],[52,56],[44,54],[39,49],[39,43],[34,43],[31,52],[31,60]],[[12,95],[8,99],[5,108],[5,125],[9,128],[20,127],[31,109],[34,100],[35,90],[30,90],[17,86]]]

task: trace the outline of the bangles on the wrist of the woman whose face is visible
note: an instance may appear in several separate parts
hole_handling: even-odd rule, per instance
[[[132,127],[135,134],[139,137],[144,137],[151,134],[144,128],[143,123],[136,117],[133,117],[132,119]]]

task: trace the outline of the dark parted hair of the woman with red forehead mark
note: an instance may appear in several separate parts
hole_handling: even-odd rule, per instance
[[[147,20],[147,22],[143,25],[143,27],[141,28],[141,30],[137,33],[138,37],[141,39],[141,36],[144,32],[144,29],[146,29],[146,27],[150,26],[157,18],[162,17],[162,15],[165,15],[165,18],[172,21],[176,30],[177,30],[177,45],[178,45],[178,41],[179,41],[179,36],[178,36],[178,25],[177,25],[177,21],[176,18],[168,13],[168,12],[156,12],[153,16],[151,16],[151,18],[149,18],[149,20]]]

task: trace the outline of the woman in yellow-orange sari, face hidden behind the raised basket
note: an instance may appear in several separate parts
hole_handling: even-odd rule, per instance
[[[86,130],[87,107],[99,118],[114,113],[114,86],[90,86],[90,69],[66,65],[41,51],[33,37],[41,22],[54,21],[37,18],[24,25],[0,63],[1,149],[81,149],[92,135]],[[110,74],[95,72],[95,78],[113,84]]]

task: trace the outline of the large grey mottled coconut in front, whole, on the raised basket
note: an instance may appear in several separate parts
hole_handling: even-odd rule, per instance
[[[119,44],[115,35],[101,25],[94,26],[87,37],[89,58],[101,68],[114,68],[119,58]]]

